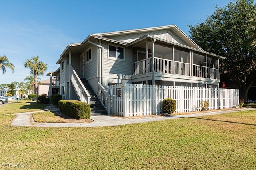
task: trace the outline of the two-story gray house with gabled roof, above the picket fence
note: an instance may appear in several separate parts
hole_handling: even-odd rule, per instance
[[[126,83],[218,88],[219,59],[176,25],[90,34],[60,55],[60,94],[88,102],[89,86],[96,96]]]

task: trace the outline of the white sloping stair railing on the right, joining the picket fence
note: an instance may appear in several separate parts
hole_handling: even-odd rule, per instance
[[[108,94],[106,89],[98,82],[98,98],[100,102],[103,104],[108,114],[110,114],[110,104],[111,104],[111,96]]]

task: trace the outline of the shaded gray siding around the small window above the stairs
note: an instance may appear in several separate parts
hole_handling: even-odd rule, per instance
[[[88,46],[86,49],[88,49],[89,47],[90,46]],[[86,78],[87,80],[97,77],[98,47],[96,47],[95,45],[92,45],[91,47],[92,47],[92,61],[90,61],[89,63],[86,63],[85,61],[86,64],[84,65],[84,78]]]

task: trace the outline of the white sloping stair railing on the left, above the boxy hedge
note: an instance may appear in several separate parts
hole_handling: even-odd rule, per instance
[[[76,74],[76,71],[74,70],[72,65],[69,65],[69,66],[70,66],[70,76],[71,76],[70,80],[76,91],[76,94],[79,100],[81,100],[82,102],[90,103],[90,97],[91,97],[90,94],[84,87],[84,84],[81,82],[79,76]]]

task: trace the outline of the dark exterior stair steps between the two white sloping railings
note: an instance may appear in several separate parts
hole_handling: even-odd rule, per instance
[[[90,98],[90,104],[91,104],[91,116],[99,116],[99,115],[108,115],[106,109],[101,104],[100,100],[96,96],[94,90],[90,86],[89,82],[85,78],[80,78],[82,83],[84,84],[84,87],[89,92],[91,98]]]

